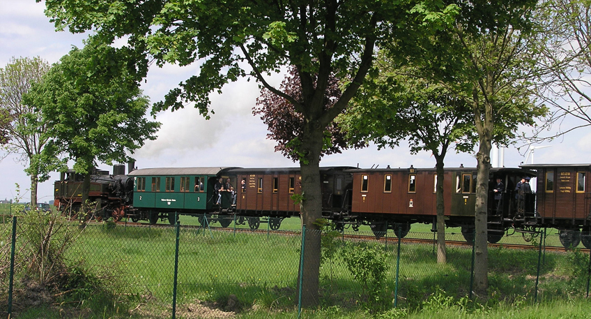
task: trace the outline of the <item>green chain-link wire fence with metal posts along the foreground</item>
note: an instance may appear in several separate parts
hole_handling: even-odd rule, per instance
[[[298,306],[302,230],[81,226],[52,214],[10,221],[0,226],[0,307],[11,318],[41,304],[109,305],[137,318]],[[417,309],[434,295],[483,297],[473,295],[473,246],[460,232],[445,236],[446,262],[438,263],[433,232],[399,239],[389,230],[376,239],[370,231],[322,231],[321,304]],[[589,251],[552,248],[555,242],[558,235],[542,232],[489,245],[489,297],[544,302],[588,295]]]

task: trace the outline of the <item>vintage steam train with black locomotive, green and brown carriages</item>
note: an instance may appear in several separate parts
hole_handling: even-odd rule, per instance
[[[122,172],[123,170],[123,172]],[[95,216],[115,221],[129,217],[152,224],[179,215],[199,217],[201,223],[232,221],[251,229],[268,223],[279,229],[284,218],[300,216],[294,194],[301,193],[299,168],[144,168],[124,173],[115,165],[114,174],[97,171],[91,180],[90,200]],[[489,195],[489,242],[505,234],[535,234],[539,228],[556,228],[565,247],[581,241],[591,248],[591,198],[588,177],[591,164],[521,165],[491,168],[489,189],[500,179],[505,189]],[[476,200],[476,169],[446,168],[444,173],[445,225],[459,227],[473,241]],[[516,185],[523,177],[535,180],[535,193],[520,195]],[[217,191],[222,178],[236,185],[233,191]],[[436,181],[434,168],[321,168],[323,217],[339,230],[369,225],[376,237],[388,229],[404,237],[413,223],[436,226]],[[67,172],[55,183],[55,205],[68,214],[81,202],[82,180]],[[219,202],[218,202],[219,200]],[[71,213],[70,213],[71,214]],[[209,215],[208,220],[204,216]],[[433,229],[434,230],[434,229]]]

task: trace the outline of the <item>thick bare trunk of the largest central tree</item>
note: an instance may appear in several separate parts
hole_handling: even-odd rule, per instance
[[[304,243],[302,306],[318,305],[318,285],[320,278],[321,230],[317,223],[322,218],[322,191],[320,181],[320,154],[323,131],[305,130],[302,149],[305,157],[300,160],[302,175],[302,221],[306,226]],[[299,292],[299,290],[298,290]]]

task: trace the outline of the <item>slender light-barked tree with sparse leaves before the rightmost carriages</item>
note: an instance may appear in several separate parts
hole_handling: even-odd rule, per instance
[[[539,54],[532,50],[537,36],[532,15],[535,1],[497,4],[479,3],[476,12],[495,13],[458,20],[447,32],[424,45],[420,61],[422,76],[437,80],[470,106],[478,134],[477,188],[475,205],[475,291],[488,289],[488,246],[486,202],[491,168],[491,143],[507,144],[520,125],[535,125],[547,108],[533,99],[540,69]],[[487,19],[494,17],[494,19]],[[484,22],[484,23],[483,23]]]

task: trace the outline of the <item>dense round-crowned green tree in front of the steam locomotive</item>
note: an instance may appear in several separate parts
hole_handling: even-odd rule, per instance
[[[141,73],[128,57],[125,48],[91,39],[82,50],[75,47],[63,56],[23,98],[38,107],[47,125],[43,155],[67,154],[74,170],[85,176],[83,209],[97,161],[129,161],[128,153],[154,140],[160,127],[145,117],[149,102],[139,89]]]

